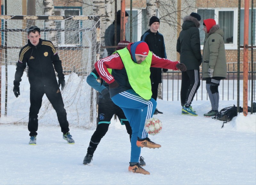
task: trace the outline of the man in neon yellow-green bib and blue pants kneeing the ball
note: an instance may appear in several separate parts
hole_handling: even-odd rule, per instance
[[[150,67],[186,70],[179,62],[160,58],[149,51],[144,41],[130,43],[116,50],[111,56],[97,61],[95,69],[109,85],[112,101],[124,111],[132,127],[131,158],[128,170],[133,173],[150,174],[140,166],[142,147],[160,148],[152,142],[144,129],[145,122],[153,116],[156,100],[151,98]],[[112,69],[111,74],[108,69]]]

